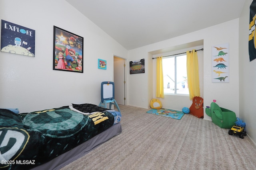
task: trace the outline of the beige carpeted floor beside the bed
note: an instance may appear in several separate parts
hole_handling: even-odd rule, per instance
[[[254,170],[256,147],[248,136],[228,135],[212,123],[119,106],[122,133],[61,170]],[[250,134],[248,134],[250,135]],[[111,149],[108,149],[111,148]]]

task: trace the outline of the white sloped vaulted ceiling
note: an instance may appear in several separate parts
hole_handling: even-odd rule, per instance
[[[245,0],[66,1],[127,50],[239,18],[245,2]]]

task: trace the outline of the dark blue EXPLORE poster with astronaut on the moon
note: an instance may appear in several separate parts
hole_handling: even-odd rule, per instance
[[[1,51],[35,57],[35,33],[33,29],[2,20]]]

